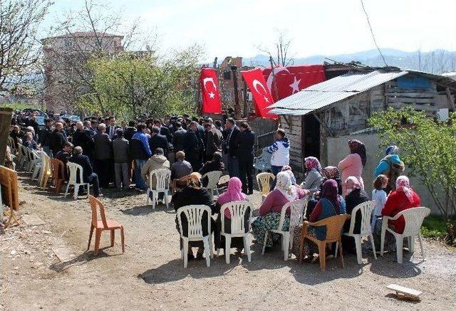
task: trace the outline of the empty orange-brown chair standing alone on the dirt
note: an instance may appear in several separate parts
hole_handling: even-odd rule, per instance
[[[106,219],[105,206],[101,204],[100,200],[96,199],[95,196],[88,196],[90,201],[90,208],[92,209],[92,222],[90,223],[90,234],[88,236],[87,251],[90,248],[90,241],[92,240],[93,229],[95,229],[95,250],[93,255],[98,255],[100,249],[100,238],[101,233],[105,230],[111,231],[111,247],[114,246],[115,241],[115,230],[120,229],[120,239],[122,242],[122,253],[125,253],[125,236],[123,226],[118,221]],[[100,218],[98,220],[98,209],[100,209]]]

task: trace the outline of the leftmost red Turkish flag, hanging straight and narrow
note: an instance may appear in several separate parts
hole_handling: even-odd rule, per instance
[[[201,84],[202,112],[222,113],[222,100],[220,100],[219,79],[214,68],[202,68],[199,75]]]

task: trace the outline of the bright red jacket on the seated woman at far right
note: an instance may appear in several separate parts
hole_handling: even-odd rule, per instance
[[[386,199],[385,206],[383,206],[382,215],[394,217],[400,211],[420,206],[420,202],[420,197],[413,190],[411,201],[405,195],[404,191],[391,191],[390,195],[388,196],[388,199]],[[389,221],[389,224],[394,226],[394,230],[397,233],[404,232],[405,220],[403,216],[400,216],[395,221]]]

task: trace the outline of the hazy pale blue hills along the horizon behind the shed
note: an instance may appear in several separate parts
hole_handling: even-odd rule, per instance
[[[456,71],[456,51],[435,50],[430,52],[405,52],[394,48],[382,48],[381,51],[385,57],[386,63],[390,66],[437,74]],[[325,60],[328,62],[336,60],[341,63],[358,61],[363,65],[371,66],[385,65],[376,49],[333,56],[316,55],[305,58],[294,58],[294,65],[321,64]],[[243,65],[268,66],[269,56],[259,54],[252,58],[244,58],[242,62]]]

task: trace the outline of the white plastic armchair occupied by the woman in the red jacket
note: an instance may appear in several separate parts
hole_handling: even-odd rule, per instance
[[[394,217],[383,216],[382,219],[382,233],[380,240],[380,255],[383,256],[383,249],[385,247],[385,234],[388,230],[396,240],[396,253],[398,255],[398,263],[402,263],[403,256],[403,241],[408,238],[408,251],[413,253],[415,251],[415,236],[418,236],[420,241],[421,255],[425,260],[425,250],[423,248],[423,238],[421,238],[420,228],[423,224],[424,218],[430,214],[430,209],[424,206],[414,207],[412,209],[405,209]],[[395,221],[400,216],[404,217],[405,227],[402,234],[395,232],[393,229],[388,228],[388,221]]]

